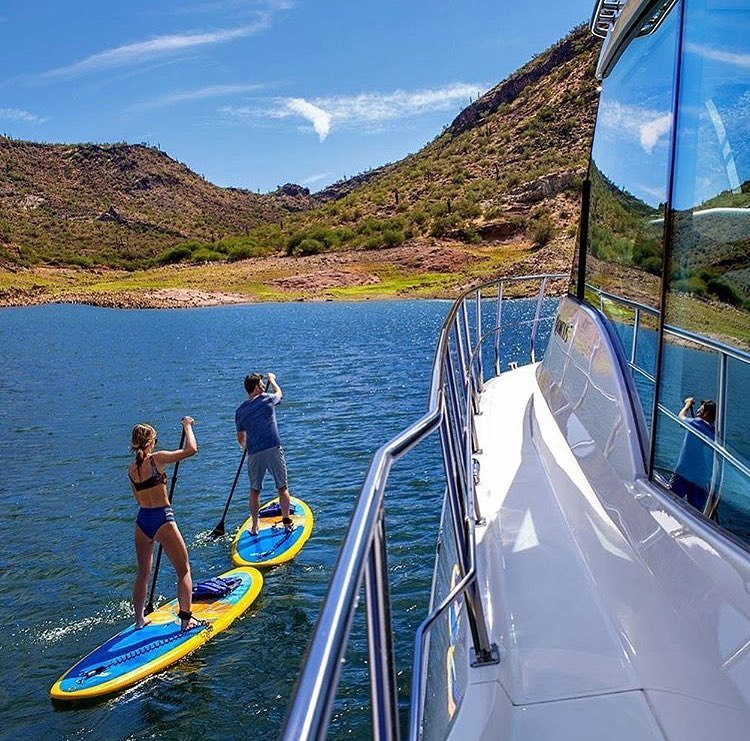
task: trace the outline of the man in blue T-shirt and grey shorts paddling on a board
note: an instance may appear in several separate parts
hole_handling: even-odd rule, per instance
[[[258,534],[258,511],[260,510],[260,490],[263,478],[270,471],[279,492],[279,506],[282,522],[287,530],[292,527],[289,517],[289,487],[286,477],[286,460],[281,447],[279,427],[276,423],[276,405],[281,401],[281,388],[276,383],[276,376],[268,374],[266,393],[263,376],[251,373],[245,376],[245,391],[248,399],[235,412],[237,442],[247,449],[247,473],[250,477],[250,515],[253,523],[251,535]]]

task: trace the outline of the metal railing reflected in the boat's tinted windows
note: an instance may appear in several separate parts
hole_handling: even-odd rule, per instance
[[[633,312],[633,337],[631,340],[630,357],[628,359],[628,365],[633,373],[640,375],[645,378],[652,386],[655,386],[656,379],[653,374],[649,373],[645,368],[642,368],[638,364],[637,351],[638,351],[638,336],[642,325],[643,315],[650,316],[654,319],[659,318],[659,312],[647,304],[641,304],[637,301],[617,296],[613,293],[608,293],[600,288],[586,284],[586,289],[596,294],[599,297],[599,309],[607,316],[605,312],[605,301],[610,301],[620,306],[624,306]],[[686,424],[682,419],[679,418],[671,409],[666,407],[664,404],[659,402],[656,406],[657,411],[664,414],[666,417],[671,419],[682,427],[688,434],[695,435],[705,445],[713,450],[714,453],[714,466],[713,473],[711,476],[711,485],[708,492],[708,498],[703,508],[703,514],[710,517],[716,511],[716,507],[719,504],[721,497],[721,480],[723,478],[723,466],[724,462],[730,463],[734,466],[743,476],[750,480],[750,468],[737,458],[727,447],[727,389],[728,389],[728,378],[729,378],[729,360],[737,360],[747,366],[750,366],[750,353],[741,350],[737,347],[732,347],[718,340],[714,340],[705,335],[696,334],[689,330],[682,329],[671,324],[664,325],[664,336],[673,337],[676,340],[688,343],[691,346],[702,347],[709,352],[716,353],[719,358],[718,368],[718,383],[716,390],[716,420],[714,423],[715,437],[712,440],[706,435],[699,432],[692,425]],[[654,389],[655,390],[655,389]],[[652,441],[653,445],[654,442]]]

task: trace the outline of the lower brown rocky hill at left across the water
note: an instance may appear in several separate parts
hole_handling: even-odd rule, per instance
[[[184,240],[214,241],[316,201],[295,186],[219,188],[142,145],[0,137],[0,260],[139,266]]]

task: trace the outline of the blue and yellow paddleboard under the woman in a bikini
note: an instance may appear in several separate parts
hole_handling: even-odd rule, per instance
[[[222,597],[193,598],[193,617],[200,624],[180,629],[179,606],[172,600],[154,610],[151,622],[131,625],[81,659],[55,682],[53,700],[86,700],[118,692],[173,664],[229,627],[253,603],[263,586],[257,569],[232,569],[222,579],[236,586]],[[236,580],[239,579],[239,583]]]

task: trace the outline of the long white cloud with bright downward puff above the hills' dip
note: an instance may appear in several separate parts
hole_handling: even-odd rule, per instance
[[[312,100],[279,98],[266,108],[228,106],[221,112],[242,120],[302,116],[313,124],[318,138],[323,141],[337,126],[371,128],[373,124],[464,106],[488,87],[485,83],[458,82],[426,90],[337,95]]]

